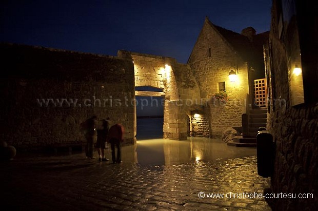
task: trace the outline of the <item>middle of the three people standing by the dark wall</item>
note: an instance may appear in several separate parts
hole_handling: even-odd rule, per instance
[[[110,126],[109,118],[103,120],[102,126],[103,129],[97,129],[97,141],[95,144],[95,148],[98,152],[98,156],[100,156],[98,161],[109,161],[109,159],[105,158],[106,139]]]

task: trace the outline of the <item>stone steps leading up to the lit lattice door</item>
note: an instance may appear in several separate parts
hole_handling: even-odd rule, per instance
[[[242,122],[243,122],[242,118]],[[267,109],[250,109],[247,117],[247,128],[243,129],[243,136],[235,136],[227,144],[236,147],[256,147],[256,135],[260,127],[266,128]],[[244,127],[244,123],[242,123]]]

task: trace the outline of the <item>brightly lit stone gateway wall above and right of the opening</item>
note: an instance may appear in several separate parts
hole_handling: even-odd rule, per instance
[[[188,136],[188,114],[196,109],[198,86],[188,65],[164,56],[119,51],[118,56],[134,62],[135,86],[163,89],[164,138],[183,140]]]

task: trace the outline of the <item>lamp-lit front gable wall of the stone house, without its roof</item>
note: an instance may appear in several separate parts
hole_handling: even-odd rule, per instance
[[[211,49],[211,54],[207,54]],[[228,127],[242,125],[241,115],[244,112],[248,86],[248,64],[235,53],[233,48],[206,19],[188,61],[198,86],[201,99],[208,101],[206,116],[210,119],[210,137],[222,137]],[[238,68],[237,82],[230,82],[229,69]],[[213,94],[218,91],[218,83],[225,82],[229,96],[227,104],[220,106],[211,102]]]

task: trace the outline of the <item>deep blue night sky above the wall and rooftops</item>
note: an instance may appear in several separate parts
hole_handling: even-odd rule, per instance
[[[129,50],[186,63],[207,15],[240,33],[270,29],[271,0],[2,1],[0,42],[116,55]]]

